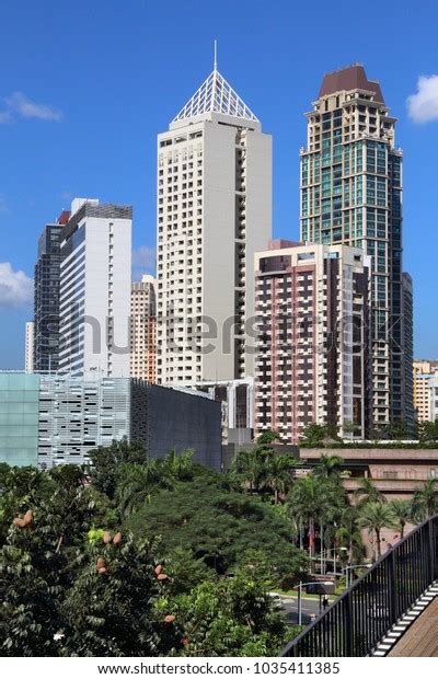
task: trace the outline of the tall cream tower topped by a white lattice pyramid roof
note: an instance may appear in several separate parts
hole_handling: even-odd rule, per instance
[[[158,137],[158,381],[253,375],[254,253],[272,230],[272,138],[215,68]]]

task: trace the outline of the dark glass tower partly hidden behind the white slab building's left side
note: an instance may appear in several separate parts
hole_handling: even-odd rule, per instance
[[[70,212],[48,223],[38,241],[34,278],[34,369],[56,372],[59,367],[60,237]]]

